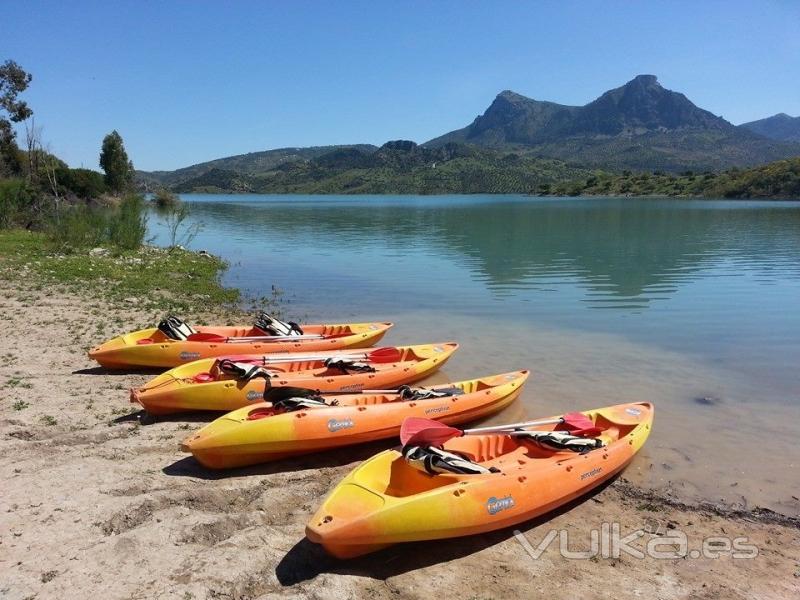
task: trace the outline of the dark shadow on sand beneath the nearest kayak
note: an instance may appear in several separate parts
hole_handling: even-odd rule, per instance
[[[563,506],[550,511],[546,515],[525,521],[513,527],[499,529],[479,535],[448,538],[443,540],[407,542],[389,546],[373,554],[358,558],[341,560],[334,558],[323,550],[322,546],[303,538],[286,553],[275,568],[275,575],[283,586],[291,586],[309,579],[314,579],[323,573],[336,575],[356,575],[385,580],[395,575],[409,571],[423,569],[439,563],[463,558],[475,554],[491,546],[510,539],[515,529],[523,533],[539,527],[549,520],[569,512],[576,506],[590,500],[607,486],[616,481],[617,476],[611,478],[603,485],[595,488],[588,494],[576,498]],[[436,551],[431,552],[431,544],[436,544]],[[524,550],[520,547],[520,551]]]

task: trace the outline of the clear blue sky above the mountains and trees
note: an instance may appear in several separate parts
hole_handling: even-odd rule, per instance
[[[137,168],[284,146],[418,142],[504,89],[585,104],[637,74],[733,123],[800,115],[800,1],[4,3],[0,61],[52,151]]]

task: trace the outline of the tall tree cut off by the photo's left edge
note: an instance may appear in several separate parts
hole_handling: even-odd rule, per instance
[[[19,100],[31,82],[31,76],[13,60],[0,65],[0,175],[20,171],[19,149],[11,123],[24,121],[33,114],[28,105]]]

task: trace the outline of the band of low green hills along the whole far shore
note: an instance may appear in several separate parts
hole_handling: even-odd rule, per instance
[[[158,185],[140,174],[140,185]],[[281,162],[259,173],[210,168],[166,184],[179,193],[224,194],[535,194],[800,198],[800,158],[724,171],[621,172],[452,143],[426,148],[388,142],[370,152],[337,148]]]

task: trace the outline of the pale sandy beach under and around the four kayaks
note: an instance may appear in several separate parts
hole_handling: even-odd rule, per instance
[[[623,535],[647,530],[639,548],[655,536],[683,532],[689,549],[725,536],[747,538],[758,555],[568,559],[553,542],[532,558],[504,530],[396,546],[353,561],[331,559],[304,539],[305,523],[337,480],[385,444],[230,473],[206,471],[179,444],[209,416],[143,424],[127,390],[149,376],[107,373],[86,357],[91,345],[160,315],[138,311],[133,299],[111,307],[57,289],[4,283],[4,600],[94,593],[104,600],[800,597],[796,518],[681,504],[634,486],[625,474],[558,514],[520,526],[529,546],[564,530],[572,550],[588,550],[592,529],[617,523]]]

